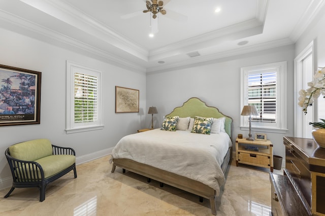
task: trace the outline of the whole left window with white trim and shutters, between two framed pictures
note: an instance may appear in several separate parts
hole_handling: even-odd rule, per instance
[[[102,129],[102,72],[67,61],[67,134]]]

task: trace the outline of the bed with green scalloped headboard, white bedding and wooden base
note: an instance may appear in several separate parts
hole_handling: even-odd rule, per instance
[[[213,123],[222,119],[224,128],[221,121],[220,133],[191,133],[191,120],[186,130],[171,132],[157,128],[125,136],[112,151],[111,172],[118,166],[123,168],[123,172],[127,169],[147,177],[148,182],[153,179],[160,182],[160,186],[168,184],[196,194],[200,201],[202,197],[207,198],[212,214],[216,215],[216,198],[225,183],[232,155],[232,118],[215,107],[207,106],[199,98],[190,98],[165,117],[174,116],[182,122],[196,116],[213,118]]]

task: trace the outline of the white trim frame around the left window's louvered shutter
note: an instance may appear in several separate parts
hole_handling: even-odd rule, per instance
[[[98,76],[98,120],[93,122],[93,124],[76,126],[74,123],[74,70],[78,69],[79,72],[83,71],[86,74],[95,74]],[[103,116],[103,73],[100,70],[86,67],[84,65],[67,61],[67,125],[66,133],[77,133],[93,131],[96,129],[104,128],[104,116]]]

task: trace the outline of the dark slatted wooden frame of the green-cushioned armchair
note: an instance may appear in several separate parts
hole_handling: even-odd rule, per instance
[[[76,152],[72,148],[59,147],[55,145],[52,145],[52,148],[53,155],[68,154],[76,156]],[[12,187],[10,191],[5,195],[5,198],[9,197],[15,188],[37,187],[40,189],[40,202],[43,202],[45,200],[45,189],[49,183],[66,175],[71,170],[74,171],[74,176],[77,178],[76,163],[58,172],[54,176],[44,178],[44,170],[39,163],[35,161],[15,159],[10,156],[9,148],[7,148],[5,155],[8,160],[13,178]]]

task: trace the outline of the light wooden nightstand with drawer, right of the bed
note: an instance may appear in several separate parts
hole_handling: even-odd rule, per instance
[[[270,140],[236,139],[236,166],[239,163],[270,168],[273,172],[273,144]]]

